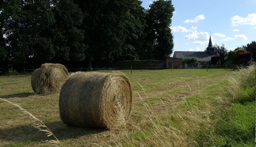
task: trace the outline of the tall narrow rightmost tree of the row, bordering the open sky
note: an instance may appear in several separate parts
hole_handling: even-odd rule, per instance
[[[147,14],[148,37],[153,41],[154,47],[151,50],[155,59],[162,59],[173,53],[173,34],[171,33],[171,18],[174,7],[171,0],[157,0],[149,5]]]

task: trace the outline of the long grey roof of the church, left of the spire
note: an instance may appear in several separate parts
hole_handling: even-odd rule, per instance
[[[198,61],[209,61],[211,55],[208,51],[174,51],[174,58],[197,58]]]

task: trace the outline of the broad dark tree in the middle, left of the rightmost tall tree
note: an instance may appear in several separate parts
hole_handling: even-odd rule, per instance
[[[138,59],[136,40],[143,34],[143,8],[138,0],[74,0],[83,12],[88,62]]]

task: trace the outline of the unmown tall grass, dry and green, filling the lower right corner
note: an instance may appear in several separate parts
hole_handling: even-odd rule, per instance
[[[256,64],[234,71],[223,83],[190,86],[183,103],[170,105],[161,98],[158,107],[143,99],[145,119],[126,133],[117,146],[246,147],[254,145]],[[141,85],[140,85],[141,86]],[[142,87],[142,86],[141,86]],[[202,90],[203,89],[203,90]],[[217,92],[216,92],[217,91]],[[146,92],[143,89],[143,92]],[[166,110],[157,113],[157,110]],[[172,109],[171,109],[172,108]]]

